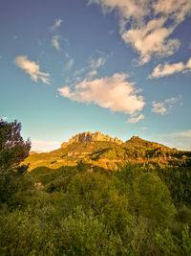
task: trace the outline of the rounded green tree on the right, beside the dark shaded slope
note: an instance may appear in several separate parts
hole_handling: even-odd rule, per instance
[[[126,165],[115,174],[121,181],[120,190],[129,198],[129,211],[154,224],[173,220],[176,208],[167,186],[154,173],[146,173],[138,165]],[[124,185],[122,185],[124,183]]]

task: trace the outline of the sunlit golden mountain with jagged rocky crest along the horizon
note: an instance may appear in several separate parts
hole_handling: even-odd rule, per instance
[[[127,162],[169,164],[185,161],[191,157],[190,151],[170,149],[156,142],[133,136],[126,142],[99,131],[82,132],[63,142],[56,151],[31,153],[24,161],[30,170],[46,166],[52,169],[61,166],[75,166],[80,160],[107,170],[117,169]]]

